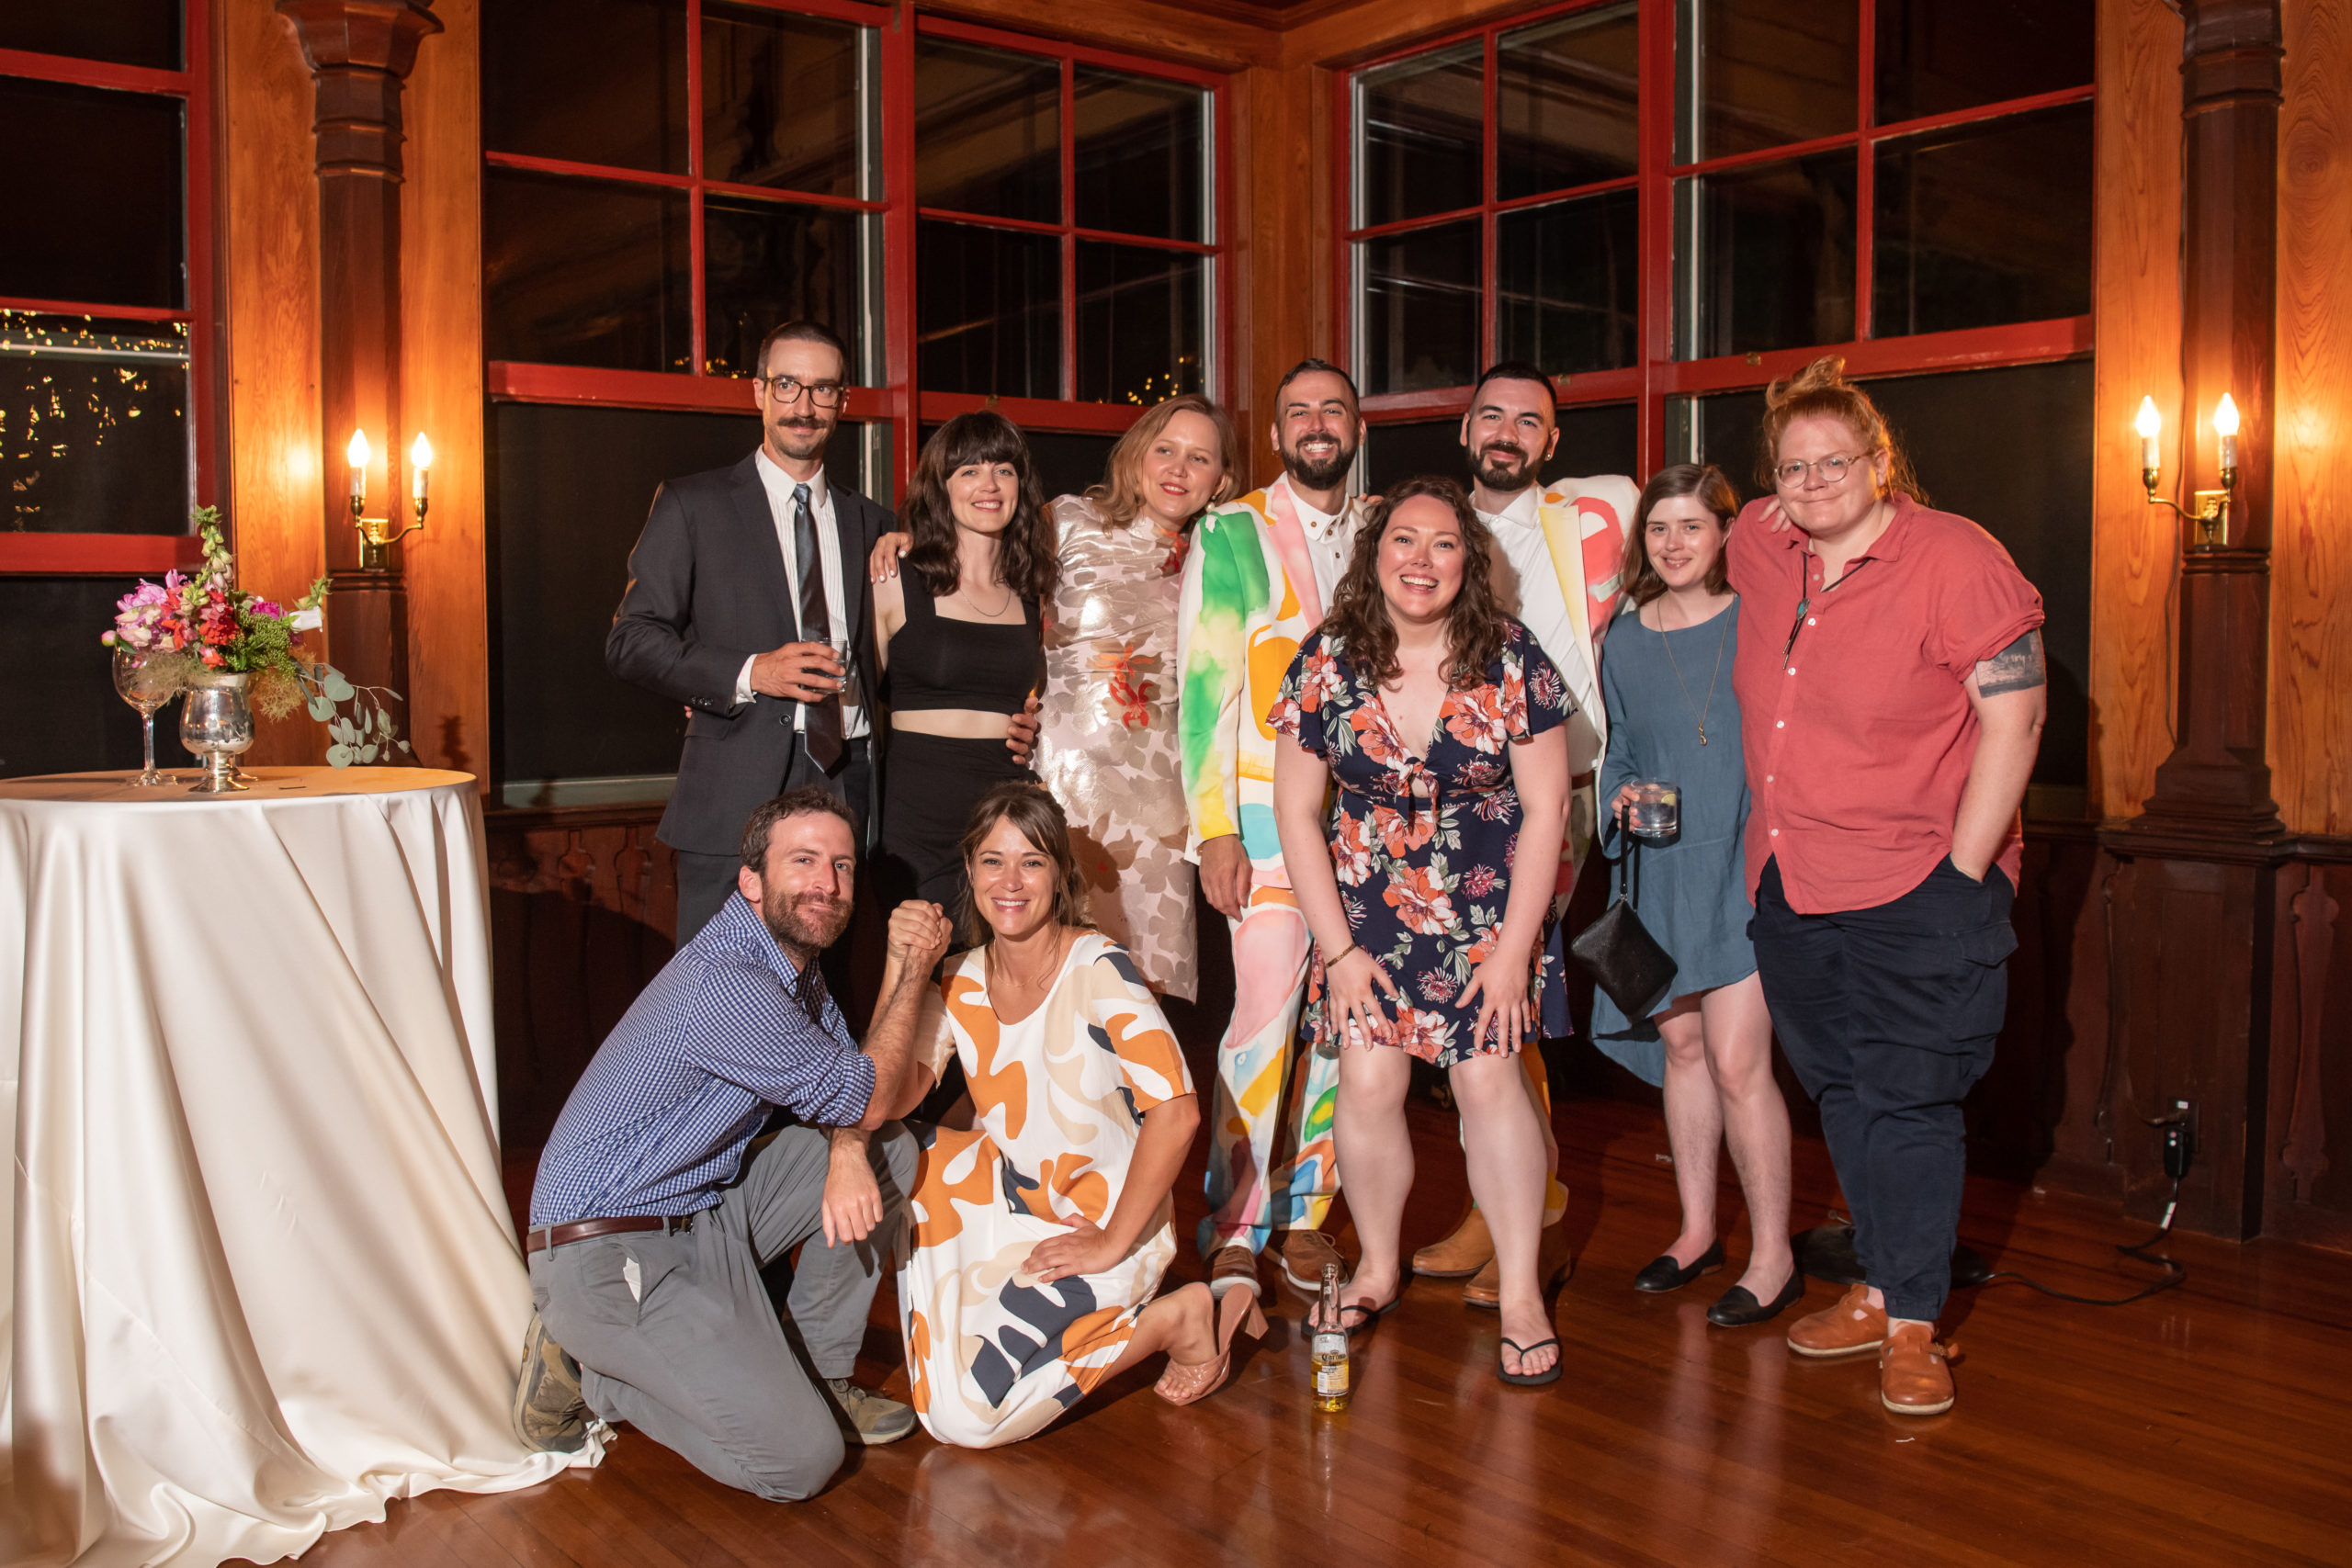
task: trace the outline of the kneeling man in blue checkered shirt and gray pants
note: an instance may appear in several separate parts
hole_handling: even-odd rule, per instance
[[[929,903],[891,912],[858,1048],[816,971],[849,924],[854,870],[849,809],[826,790],[753,811],[739,896],[654,976],[564,1103],[524,1241],[524,1443],[579,1448],[593,1413],[727,1486],[797,1500],[840,1469],[844,1432],[889,1443],[915,1429],[908,1406],[849,1373],[915,1178],[915,1143],[884,1117],[950,926]],[[771,1105],[800,1124],[755,1147]],[[760,1269],[800,1244],[788,1333]]]

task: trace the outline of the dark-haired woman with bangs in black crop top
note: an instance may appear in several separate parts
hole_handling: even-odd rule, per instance
[[[1033,778],[1004,733],[1044,689],[1037,607],[1056,567],[1021,430],[990,411],[941,425],[898,524],[913,536],[906,571],[875,583],[891,715],[875,884],[882,907],[927,898],[962,929],[964,823],[993,785]]]

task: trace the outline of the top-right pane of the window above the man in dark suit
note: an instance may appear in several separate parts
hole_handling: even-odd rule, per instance
[[[868,195],[858,183],[863,31],[818,16],[706,5],[703,174],[734,186]]]

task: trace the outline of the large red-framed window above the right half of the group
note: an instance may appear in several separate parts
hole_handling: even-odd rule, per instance
[[[1646,470],[1693,397],[2091,350],[2089,0],[1576,0],[1355,66],[1338,299],[1367,418],[1536,360]]]

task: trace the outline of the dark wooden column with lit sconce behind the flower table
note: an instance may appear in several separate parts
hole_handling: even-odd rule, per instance
[[[400,407],[400,85],[440,33],[433,0],[278,0],[318,89],[320,470],[327,477],[327,646],[353,682],[409,689],[400,545],[362,567],[346,447],[374,449],[367,512],[407,520]]]

